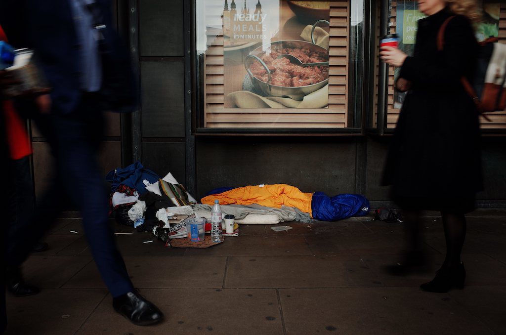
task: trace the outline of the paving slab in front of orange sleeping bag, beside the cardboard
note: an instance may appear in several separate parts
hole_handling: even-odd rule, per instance
[[[301,256],[313,255],[303,235],[230,236],[207,249],[188,248],[185,256]]]

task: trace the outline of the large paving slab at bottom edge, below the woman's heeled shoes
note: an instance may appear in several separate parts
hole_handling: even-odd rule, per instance
[[[416,288],[291,288],[279,296],[287,335],[493,333],[449,295]]]

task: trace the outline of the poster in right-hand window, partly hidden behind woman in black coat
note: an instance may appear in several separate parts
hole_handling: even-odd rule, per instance
[[[483,19],[476,30],[476,37],[480,41],[488,37],[497,37],[499,35],[500,14],[500,4],[497,0],[485,0],[481,2],[481,5],[483,9]],[[396,10],[396,31],[399,35],[399,48],[408,56],[412,56],[414,44],[416,42],[418,20],[423,19],[426,15],[418,11],[416,0],[399,0]],[[395,79],[397,79],[399,73],[400,68],[396,68]],[[405,97],[405,92],[394,91],[394,108],[401,108]]]

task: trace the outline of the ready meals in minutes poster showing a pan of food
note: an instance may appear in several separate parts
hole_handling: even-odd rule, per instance
[[[225,108],[328,106],[328,1],[221,4]]]

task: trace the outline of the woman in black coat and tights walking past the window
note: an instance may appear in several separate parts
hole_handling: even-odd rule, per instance
[[[401,67],[396,88],[409,89],[387,157],[384,184],[392,185],[411,228],[413,252],[401,270],[424,263],[419,212],[441,212],[446,258],[434,280],[420,287],[445,292],[463,287],[466,272],[460,252],[465,214],[474,210],[476,192],[482,189],[479,114],[461,84],[463,76],[470,81],[474,77],[478,43],[472,20],[478,15],[469,0],[418,3],[428,17],[418,21],[413,56],[388,47],[380,52],[384,62]],[[443,50],[438,51],[438,32],[445,22]]]

